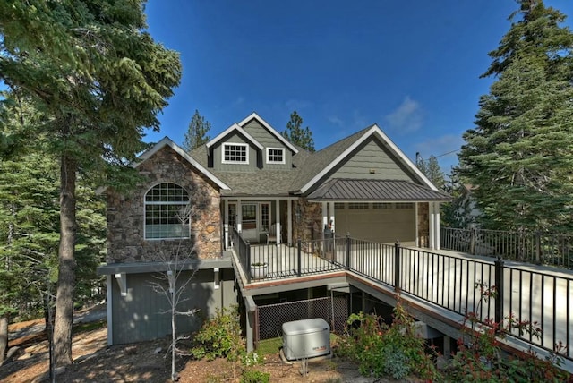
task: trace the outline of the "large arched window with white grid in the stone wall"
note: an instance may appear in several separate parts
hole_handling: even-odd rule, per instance
[[[145,238],[189,238],[189,194],[176,183],[159,183],[145,194]]]

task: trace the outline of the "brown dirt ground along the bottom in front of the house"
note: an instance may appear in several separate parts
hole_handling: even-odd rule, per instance
[[[41,322],[40,322],[41,323]],[[26,322],[12,325],[30,328]],[[38,326],[38,323],[36,323]],[[13,341],[14,342],[14,341]],[[15,341],[21,352],[12,362],[0,367],[2,382],[47,381],[47,341],[42,336],[32,336]],[[167,356],[167,339],[142,342],[133,345],[107,346],[107,327],[103,320],[78,328],[73,336],[73,365],[60,372],[58,383],[71,382],[167,382],[170,381],[171,365]],[[238,382],[241,373],[238,365],[226,360],[213,362],[193,361],[180,358],[177,361],[180,382]],[[303,376],[297,363],[286,364],[278,353],[268,356],[259,367],[271,375],[271,382],[390,382],[395,380],[366,379],[360,376],[355,364],[338,358],[309,362],[308,375]]]

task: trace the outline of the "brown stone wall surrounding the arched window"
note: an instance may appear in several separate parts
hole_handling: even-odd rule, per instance
[[[165,260],[173,251],[209,259],[221,255],[218,186],[199,173],[175,150],[164,147],[138,170],[146,181],[129,195],[107,191],[107,263]],[[158,183],[177,183],[192,200],[191,239],[145,240],[144,198]]]

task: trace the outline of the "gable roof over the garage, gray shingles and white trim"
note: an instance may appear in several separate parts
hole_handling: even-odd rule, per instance
[[[303,166],[304,172],[302,172],[299,181],[292,186],[293,192],[304,194],[305,192],[310,191],[312,187],[316,186],[326,174],[329,174],[330,171],[342,163],[342,161],[344,161],[346,157],[348,157],[365,140],[368,140],[371,137],[377,137],[381,140],[381,142],[385,144],[386,148],[398,158],[398,161],[400,161],[400,163],[405,166],[417,180],[431,190],[438,191],[438,189],[425,175],[423,175],[414,163],[410,161],[400,149],[398,149],[396,144],[394,144],[394,142],[392,142],[392,140],[382,132],[378,125],[373,124],[370,127],[363,129],[360,132],[356,132],[355,134],[346,137],[344,140],[339,140],[329,147],[310,156],[309,160],[307,160]]]

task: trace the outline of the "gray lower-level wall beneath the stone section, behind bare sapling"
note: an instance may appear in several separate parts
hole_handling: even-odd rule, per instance
[[[186,276],[190,276],[187,272]],[[119,286],[112,280],[113,344],[121,345],[157,339],[171,334],[170,314],[165,296],[154,293],[150,283],[157,281],[152,274],[128,274],[127,296],[121,296]],[[213,315],[222,307],[235,304],[234,271],[223,268],[219,271],[220,287],[214,289],[212,269],[197,271],[187,285],[179,311],[198,308],[198,315],[177,319],[177,333],[190,333],[201,328],[201,319]],[[113,278],[112,278],[113,279]],[[180,278],[184,280],[184,276]],[[109,304],[110,302],[108,302]]]

